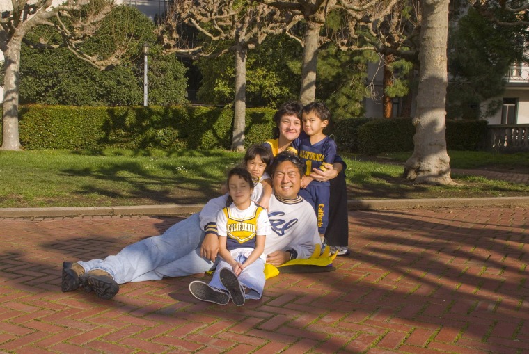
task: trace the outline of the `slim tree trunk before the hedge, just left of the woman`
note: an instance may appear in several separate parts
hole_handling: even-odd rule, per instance
[[[231,150],[244,151],[246,127],[246,55],[247,49],[237,45],[235,51],[235,115]]]

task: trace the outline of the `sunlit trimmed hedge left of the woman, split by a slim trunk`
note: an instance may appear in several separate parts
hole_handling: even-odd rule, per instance
[[[275,111],[246,109],[248,147],[271,137]],[[233,111],[203,106],[21,106],[20,143],[25,149],[148,147],[228,150]],[[1,138],[1,137],[0,137]]]

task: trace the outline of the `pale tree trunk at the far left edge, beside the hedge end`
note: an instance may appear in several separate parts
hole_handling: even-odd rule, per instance
[[[11,38],[4,51],[3,131],[0,150],[21,150],[18,132],[18,94],[22,37]]]

